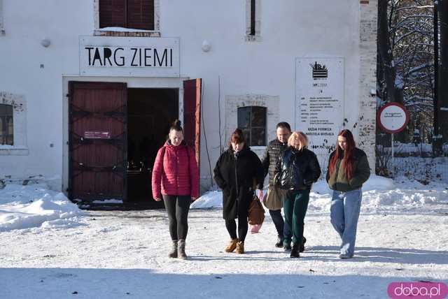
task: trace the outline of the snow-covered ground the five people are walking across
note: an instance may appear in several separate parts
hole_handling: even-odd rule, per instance
[[[30,185],[35,192],[19,196],[15,188],[20,187],[0,190],[2,213],[25,205],[25,194],[33,203],[45,198],[62,207],[66,203],[62,194],[43,186]],[[76,225],[43,221],[0,230],[0,298],[387,298],[391,282],[448,283],[446,188],[372,177],[363,193],[356,256],[350,260],[337,257],[339,240],[323,182],[311,194],[308,242],[300,259],[274,247],[269,214],[260,233],[248,235],[246,254],[237,255],[223,252],[229,237],[220,208],[191,210],[189,259],[180,261],[167,258],[163,210],[82,214],[73,209],[73,217],[62,212],[55,220]],[[18,203],[4,197],[13,192]],[[207,194],[195,205],[209,198],[202,205],[211,206],[219,196]],[[31,214],[59,209],[42,206]]]

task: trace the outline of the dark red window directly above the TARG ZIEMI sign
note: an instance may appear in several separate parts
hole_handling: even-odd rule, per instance
[[[99,28],[154,30],[154,0],[99,0]]]

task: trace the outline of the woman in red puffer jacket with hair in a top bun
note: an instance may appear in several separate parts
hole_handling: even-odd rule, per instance
[[[171,258],[185,259],[190,200],[199,196],[199,170],[195,152],[183,140],[181,121],[169,129],[169,140],[162,146],[153,167],[153,198],[165,203],[169,219],[169,234],[173,247]]]

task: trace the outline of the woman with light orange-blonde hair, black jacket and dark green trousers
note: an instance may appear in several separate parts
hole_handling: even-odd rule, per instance
[[[303,251],[304,217],[307,213],[311,184],[321,176],[321,167],[316,154],[307,149],[308,138],[302,132],[293,132],[288,138],[288,148],[281,155],[276,165],[276,184],[286,190],[283,198],[285,222],[292,228],[289,235],[284,235],[283,247],[290,247],[291,258],[298,258]],[[292,238],[291,238],[292,237]]]

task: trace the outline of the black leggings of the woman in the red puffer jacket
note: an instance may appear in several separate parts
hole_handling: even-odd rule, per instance
[[[163,202],[168,213],[169,235],[172,240],[186,240],[188,233],[189,195],[163,195]]]

